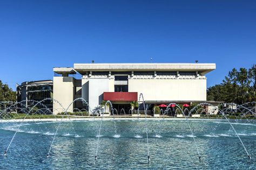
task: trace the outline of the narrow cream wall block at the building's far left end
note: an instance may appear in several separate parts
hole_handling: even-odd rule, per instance
[[[61,103],[66,110],[74,99],[74,82],[73,77],[53,77],[53,99]],[[53,114],[64,111],[63,108],[53,101]],[[70,105],[69,112],[73,111],[73,104]]]

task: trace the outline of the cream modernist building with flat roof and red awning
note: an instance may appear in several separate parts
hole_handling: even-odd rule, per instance
[[[206,101],[206,74],[215,63],[75,63],[73,68],[56,67],[53,72],[53,112],[63,108],[98,107],[105,100],[113,108],[130,109],[131,101],[142,102],[148,110],[160,103]],[[75,79],[72,74],[82,75]],[[86,101],[77,100],[82,97]]]

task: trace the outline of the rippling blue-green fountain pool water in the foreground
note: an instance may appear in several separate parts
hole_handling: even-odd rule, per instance
[[[223,119],[0,123],[0,169],[256,169],[256,121]],[[147,125],[147,126],[146,126]],[[150,162],[147,161],[146,127]],[[201,155],[199,161],[198,151]]]

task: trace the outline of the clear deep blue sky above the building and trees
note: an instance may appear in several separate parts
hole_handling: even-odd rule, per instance
[[[0,80],[91,62],[215,62],[207,87],[256,63],[256,1],[0,0]]]

